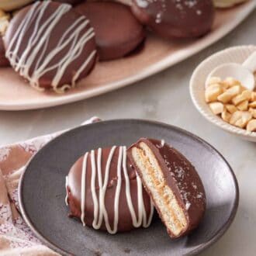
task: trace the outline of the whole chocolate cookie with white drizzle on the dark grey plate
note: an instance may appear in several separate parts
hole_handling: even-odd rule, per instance
[[[154,206],[126,161],[126,147],[91,150],[74,163],[66,178],[70,216],[109,234],[148,227]]]

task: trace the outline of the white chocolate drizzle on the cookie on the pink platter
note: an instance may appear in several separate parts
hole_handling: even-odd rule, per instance
[[[81,16],[71,26],[63,28],[63,35],[60,37],[56,47],[46,53],[50,37],[55,36],[52,33],[53,29],[59,25],[61,18],[71,10],[71,5],[61,4],[46,19],[45,12],[49,4],[50,1],[44,1],[36,2],[31,6],[19,24],[18,29],[16,29],[16,33],[13,35],[5,55],[15,71],[26,78],[33,88],[43,91],[43,88],[40,87],[40,78],[47,72],[54,71],[56,74],[51,81],[51,86],[56,92],[64,92],[67,88],[74,87],[81,73],[85,71],[92,58],[95,57],[96,50],[93,50],[81,67],[74,72],[71,85],[62,85],[59,87],[61,78],[63,78],[67,67],[81,56],[86,43],[95,36],[95,32],[94,29],[88,27],[88,19],[85,16]],[[22,38],[24,33],[31,28],[31,24],[33,24],[33,33],[29,38],[25,50],[21,54]],[[86,29],[86,27],[88,29],[81,35],[83,29]],[[68,48],[61,60],[53,63],[54,57],[57,54],[63,53],[66,47]]]

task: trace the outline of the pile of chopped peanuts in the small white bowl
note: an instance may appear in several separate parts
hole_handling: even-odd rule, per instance
[[[256,92],[234,78],[210,78],[206,84],[206,102],[215,115],[233,126],[256,132]]]

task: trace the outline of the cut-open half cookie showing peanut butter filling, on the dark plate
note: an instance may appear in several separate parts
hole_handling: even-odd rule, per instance
[[[170,237],[194,230],[205,213],[206,194],[192,164],[163,140],[140,139],[127,155]]]

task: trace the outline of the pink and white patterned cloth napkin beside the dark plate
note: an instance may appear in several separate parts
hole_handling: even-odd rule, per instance
[[[82,123],[98,122],[92,117]],[[0,148],[0,255],[59,255],[43,245],[19,214],[19,178],[29,159],[64,131]]]

